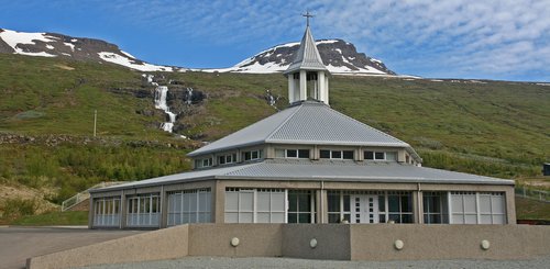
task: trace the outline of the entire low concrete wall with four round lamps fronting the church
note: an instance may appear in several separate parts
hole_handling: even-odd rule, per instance
[[[231,239],[239,238],[237,247]],[[315,243],[311,245],[311,240]],[[400,240],[403,249],[395,243]],[[482,240],[490,243],[482,249]],[[524,259],[550,255],[550,226],[424,224],[193,224],[33,257],[28,268],[185,256],[340,260]]]

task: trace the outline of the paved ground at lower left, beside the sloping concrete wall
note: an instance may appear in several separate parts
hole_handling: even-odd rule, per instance
[[[142,231],[98,231],[84,226],[0,226],[0,269],[21,269],[26,258],[120,238]]]

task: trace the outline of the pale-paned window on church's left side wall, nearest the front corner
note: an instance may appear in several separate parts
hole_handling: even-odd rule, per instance
[[[168,226],[211,222],[211,200],[210,189],[169,192]]]

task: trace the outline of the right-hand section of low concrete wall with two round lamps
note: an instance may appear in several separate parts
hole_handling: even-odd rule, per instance
[[[550,254],[550,227],[526,225],[351,225],[352,260],[517,259]],[[397,250],[395,242],[403,242]],[[482,240],[490,248],[482,249]]]

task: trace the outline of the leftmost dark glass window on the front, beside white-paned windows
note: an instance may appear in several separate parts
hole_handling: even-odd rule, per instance
[[[288,191],[288,223],[315,223],[315,213],[312,191]]]

